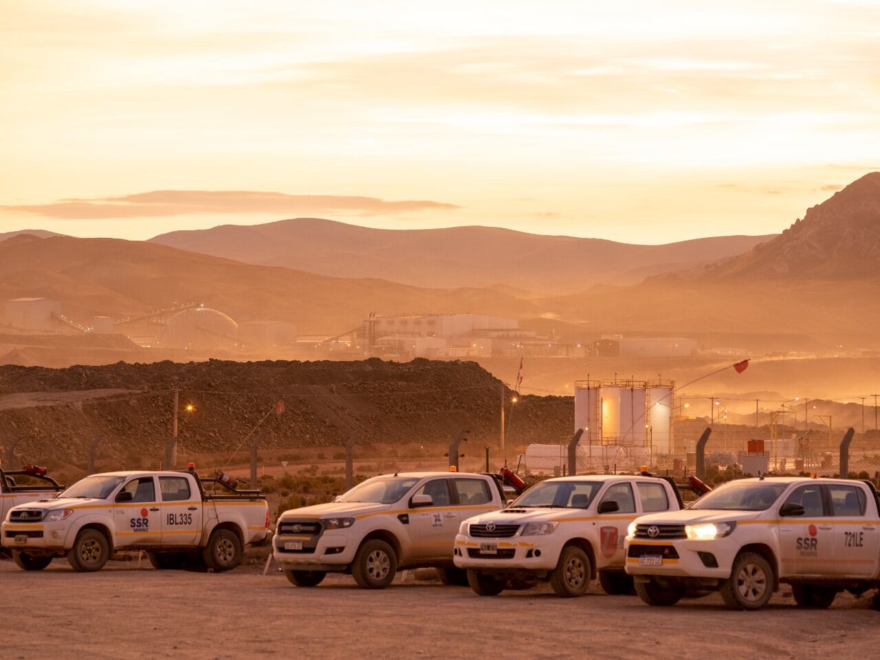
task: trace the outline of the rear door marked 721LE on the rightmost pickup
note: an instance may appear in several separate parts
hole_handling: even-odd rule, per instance
[[[880,531],[877,521],[868,517],[868,498],[864,488],[848,484],[827,484],[834,514],[835,573],[848,577],[876,574]]]

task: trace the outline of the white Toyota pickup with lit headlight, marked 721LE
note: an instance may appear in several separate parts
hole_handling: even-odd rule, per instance
[[[780,583],[797,605],[880,586],[880,512],[869,481],[767,477],[723,484],[686,510],[638,518],[627,573],[648,605],[718,590],[757,610]]]

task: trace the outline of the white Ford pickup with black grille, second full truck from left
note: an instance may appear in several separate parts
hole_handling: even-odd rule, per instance
[[[342,572],[360,587],[384,589],[401,568],[424,567],[437,568],[444,583],[457,583],[452,545],[458,525],[503,505],[502,484],[493,474],[385,474],[334,502],[284,511],[273,554],[300,587]]]

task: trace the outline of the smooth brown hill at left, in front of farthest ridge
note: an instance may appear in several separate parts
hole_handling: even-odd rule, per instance
[[[115,238],[0,243],[0,299],[29,296],[62,301],[80,322],[198,302],[237,320],[294,322],[301,333],[343,332],[372,311],[537,315],[532,302],[498,290],[326,277]]]

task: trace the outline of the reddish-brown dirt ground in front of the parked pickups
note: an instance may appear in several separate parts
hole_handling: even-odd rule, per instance
[[[784,589],[760,612],[730,612],[716,595],[649,608],[636,597],[556,598],[546,585],[480,598],[466,587],[398,576],[366,591],[348,576],[296,588],[275,568],[222,575],[111,562],[77,574],[0,561],[2,656],[11,660],[251,657],[652,658],[723,656],[835,660],[876,651],[871,594],[830,611],[797,609]],[[18,632],[13,632],[18,631]]]

